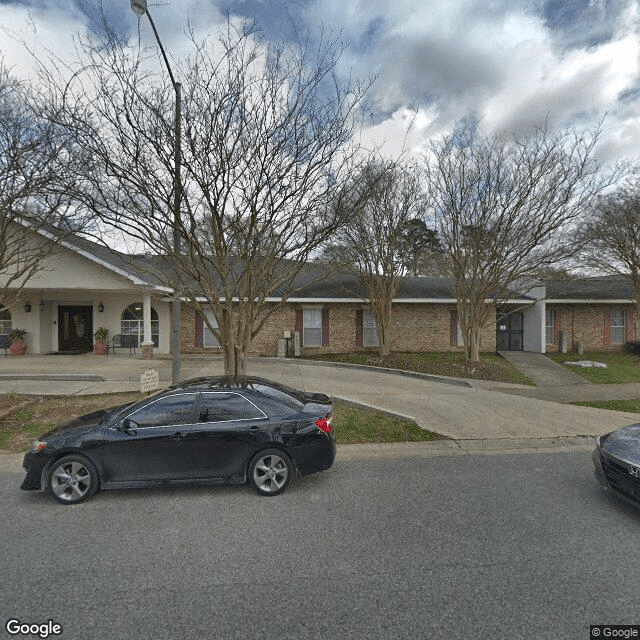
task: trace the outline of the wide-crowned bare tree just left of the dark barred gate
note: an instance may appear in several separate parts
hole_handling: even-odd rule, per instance
[[[599,135],[545,125],[510,138],[464,123],[425,154],[468,360],[479,361],[496,305],[577,251],[577,223],[622,170],[593,159]]]

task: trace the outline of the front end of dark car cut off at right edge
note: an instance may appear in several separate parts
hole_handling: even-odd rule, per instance
[[[640,508],[640,423],[600,436],[593,463],[607,491]]]

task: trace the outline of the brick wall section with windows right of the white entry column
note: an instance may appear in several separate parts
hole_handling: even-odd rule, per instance
[[[547,309],[556,312],[556,339],[553,344],[547,344],[548,352],[559,350],[558,333],[560,331],[566,333],[567,346],[571,350],[576,349],[577,342],[583,343],[585,351],[620,350],[623,347],[622,344],[611,344],[611,341],[607,340],[609,314],[613,309],[622,309],[627,312],[627,326],[633,323],[631,315],[634,311],[633,305],[548,304]],[[638,336],[635,337],[637,338]]]

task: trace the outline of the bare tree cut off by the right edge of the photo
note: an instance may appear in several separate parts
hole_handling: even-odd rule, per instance
[[[595,201],[580,236],[580,262],[633,286],[640,331],[640,179]]]

